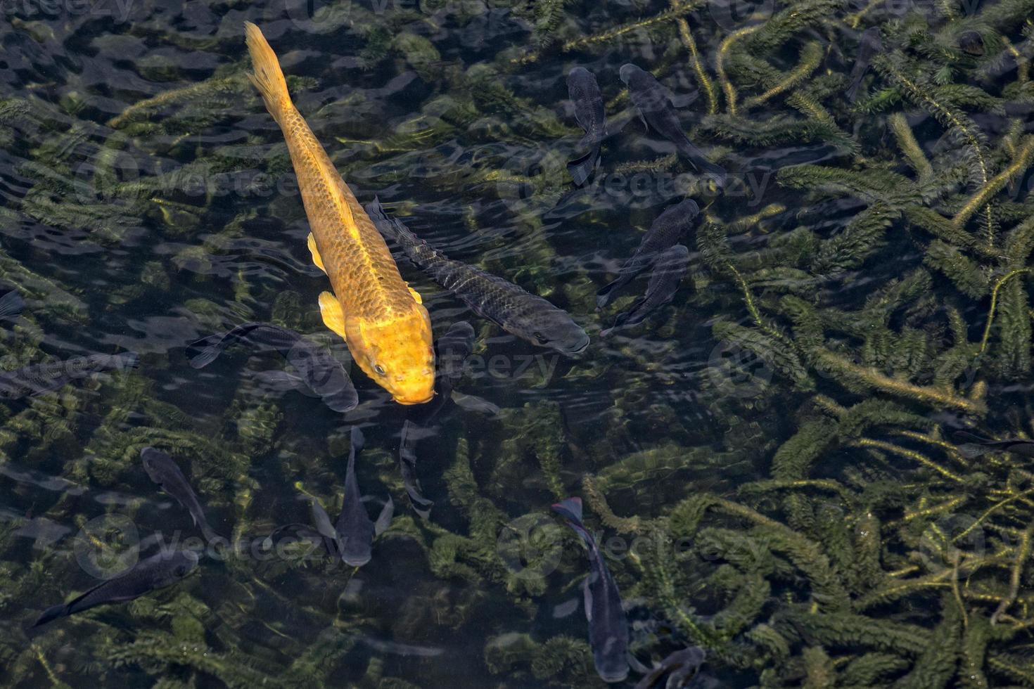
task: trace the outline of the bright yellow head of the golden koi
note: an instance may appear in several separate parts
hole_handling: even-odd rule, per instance
[[[427,309],[414,303],[405,316],[385,322],[359,321],[361,346],[353,349],[366,375],[399,404],[423,404],[434,397],[434,348]],[[354,344],[352,333],[348,344]]]

